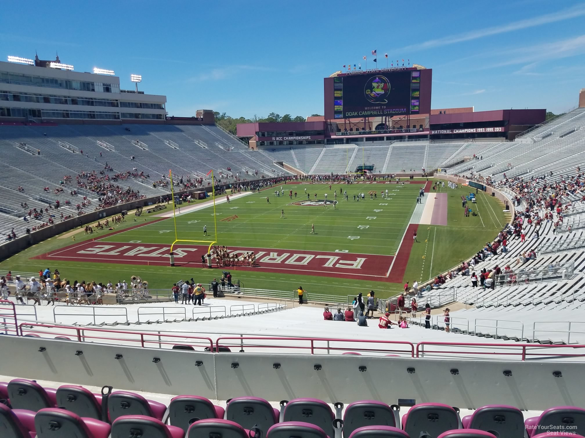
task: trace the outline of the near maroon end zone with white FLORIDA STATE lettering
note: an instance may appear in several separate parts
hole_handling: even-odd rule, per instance
[[[173,250],[175,265],[202,267],[201,256],[207,253],[207,248],[208,246],[204,245],[176,245]],[[169,266],[169,249],[169,245],[164,244],[94,241],[70,245],[33,259]],[[388,281],[386,274],[394,258],[386,255],[301,251],[299,249],[229,247],[229,251],[230,253],[254,252],[257,266],[229,266],[223,269],[302,273],[377,281]]]

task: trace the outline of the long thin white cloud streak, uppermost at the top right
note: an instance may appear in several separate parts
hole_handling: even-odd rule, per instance
[[[484,29],[472,30],[471,32],[464,32],[449,35],[443,38],[424,41],[423,43],[411,44],[410,46],[402,47],[399,50],[424,50],[426,48],[447,46],[449,44],[462,43],[463,41],[476,40],[487,36],[512,32],[514,30],[528,29],[529,27],[541,26],[548,23],[555,23],[571,18],[577,18],[583,15],[585,15],[585,5],[580,4],[574,6],[573,8],[563,9],[562,11],[519,20],[517,22],[508,23],[507,25],[484,27]]]

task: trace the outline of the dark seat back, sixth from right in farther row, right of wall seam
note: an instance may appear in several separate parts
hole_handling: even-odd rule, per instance
[[[226,420],[238,423],[244,429],[257,426],[266,436],[268,429],[278,423],[278,411],[263,398],[236,397],[228,402]]]

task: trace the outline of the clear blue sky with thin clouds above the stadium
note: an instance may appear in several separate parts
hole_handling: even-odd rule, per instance
[[[174,116],[323,113],[323,78],[343,64],[410,59],[433,69],[432,107],[577,105],[585,2],[2,2],[0,58],[113,69],[122,88],[167,96]],[[385,64],[385,61],[383,61]],[[378,64],[380,65],[380,64]]]

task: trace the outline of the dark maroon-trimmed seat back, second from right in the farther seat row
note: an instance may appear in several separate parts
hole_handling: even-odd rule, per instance
[[[467,429],[479,429],[486,432],[497,432],[505,438],[524,438],[524,415],[514,406],[490,405],[483,406],[473,412]]]

